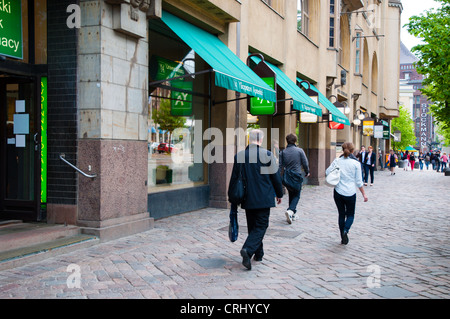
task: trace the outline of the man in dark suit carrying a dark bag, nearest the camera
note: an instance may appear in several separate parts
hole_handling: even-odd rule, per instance
[[[234,157],[230,185],[238,178],[239,165],[246,180],[246,196],[241,207],[245,209],[248,236],[240,251],[242,264],[252,269],[251,258],[261,261],[264,255],[263,239],[269,227],[270,208],[281,203],[283,186],[278,165],[273,154],[262,148],[264,133],[252,130],[250,145]]]

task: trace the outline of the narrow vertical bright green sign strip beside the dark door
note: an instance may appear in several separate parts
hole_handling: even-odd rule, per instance
[[[41,78],[41,203],[47,202],[47,78]]]

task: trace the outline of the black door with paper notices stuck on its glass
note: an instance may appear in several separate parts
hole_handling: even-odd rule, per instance
[[[0,219],[40,219],[36,83],[31,77],[0,77]]]

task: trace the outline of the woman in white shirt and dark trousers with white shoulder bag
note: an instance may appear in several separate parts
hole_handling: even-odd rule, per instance
[[[343,156],[337,158],[327,168],[328,175],[336,165],[339,166],[340,179],[334,187],[334,202],[339,212],[339,230],[341,233],[341,244],[348,244],[348,232],[355,219],[356,188],[359,188],[364,197],[364,202],[368,198],[364,192],[361,176],[361,165],[353,156],[353,143],[346,142],[342,145]]]

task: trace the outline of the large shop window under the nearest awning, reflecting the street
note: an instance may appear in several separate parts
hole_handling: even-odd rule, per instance
[[[149,193],[206,183],[207,164],[203,154],[194,156],[194,148],[200,143],[203,151],[209,125],[209,73],[198,74],[209,66],[171,30],[154,23],[149,31]]]

